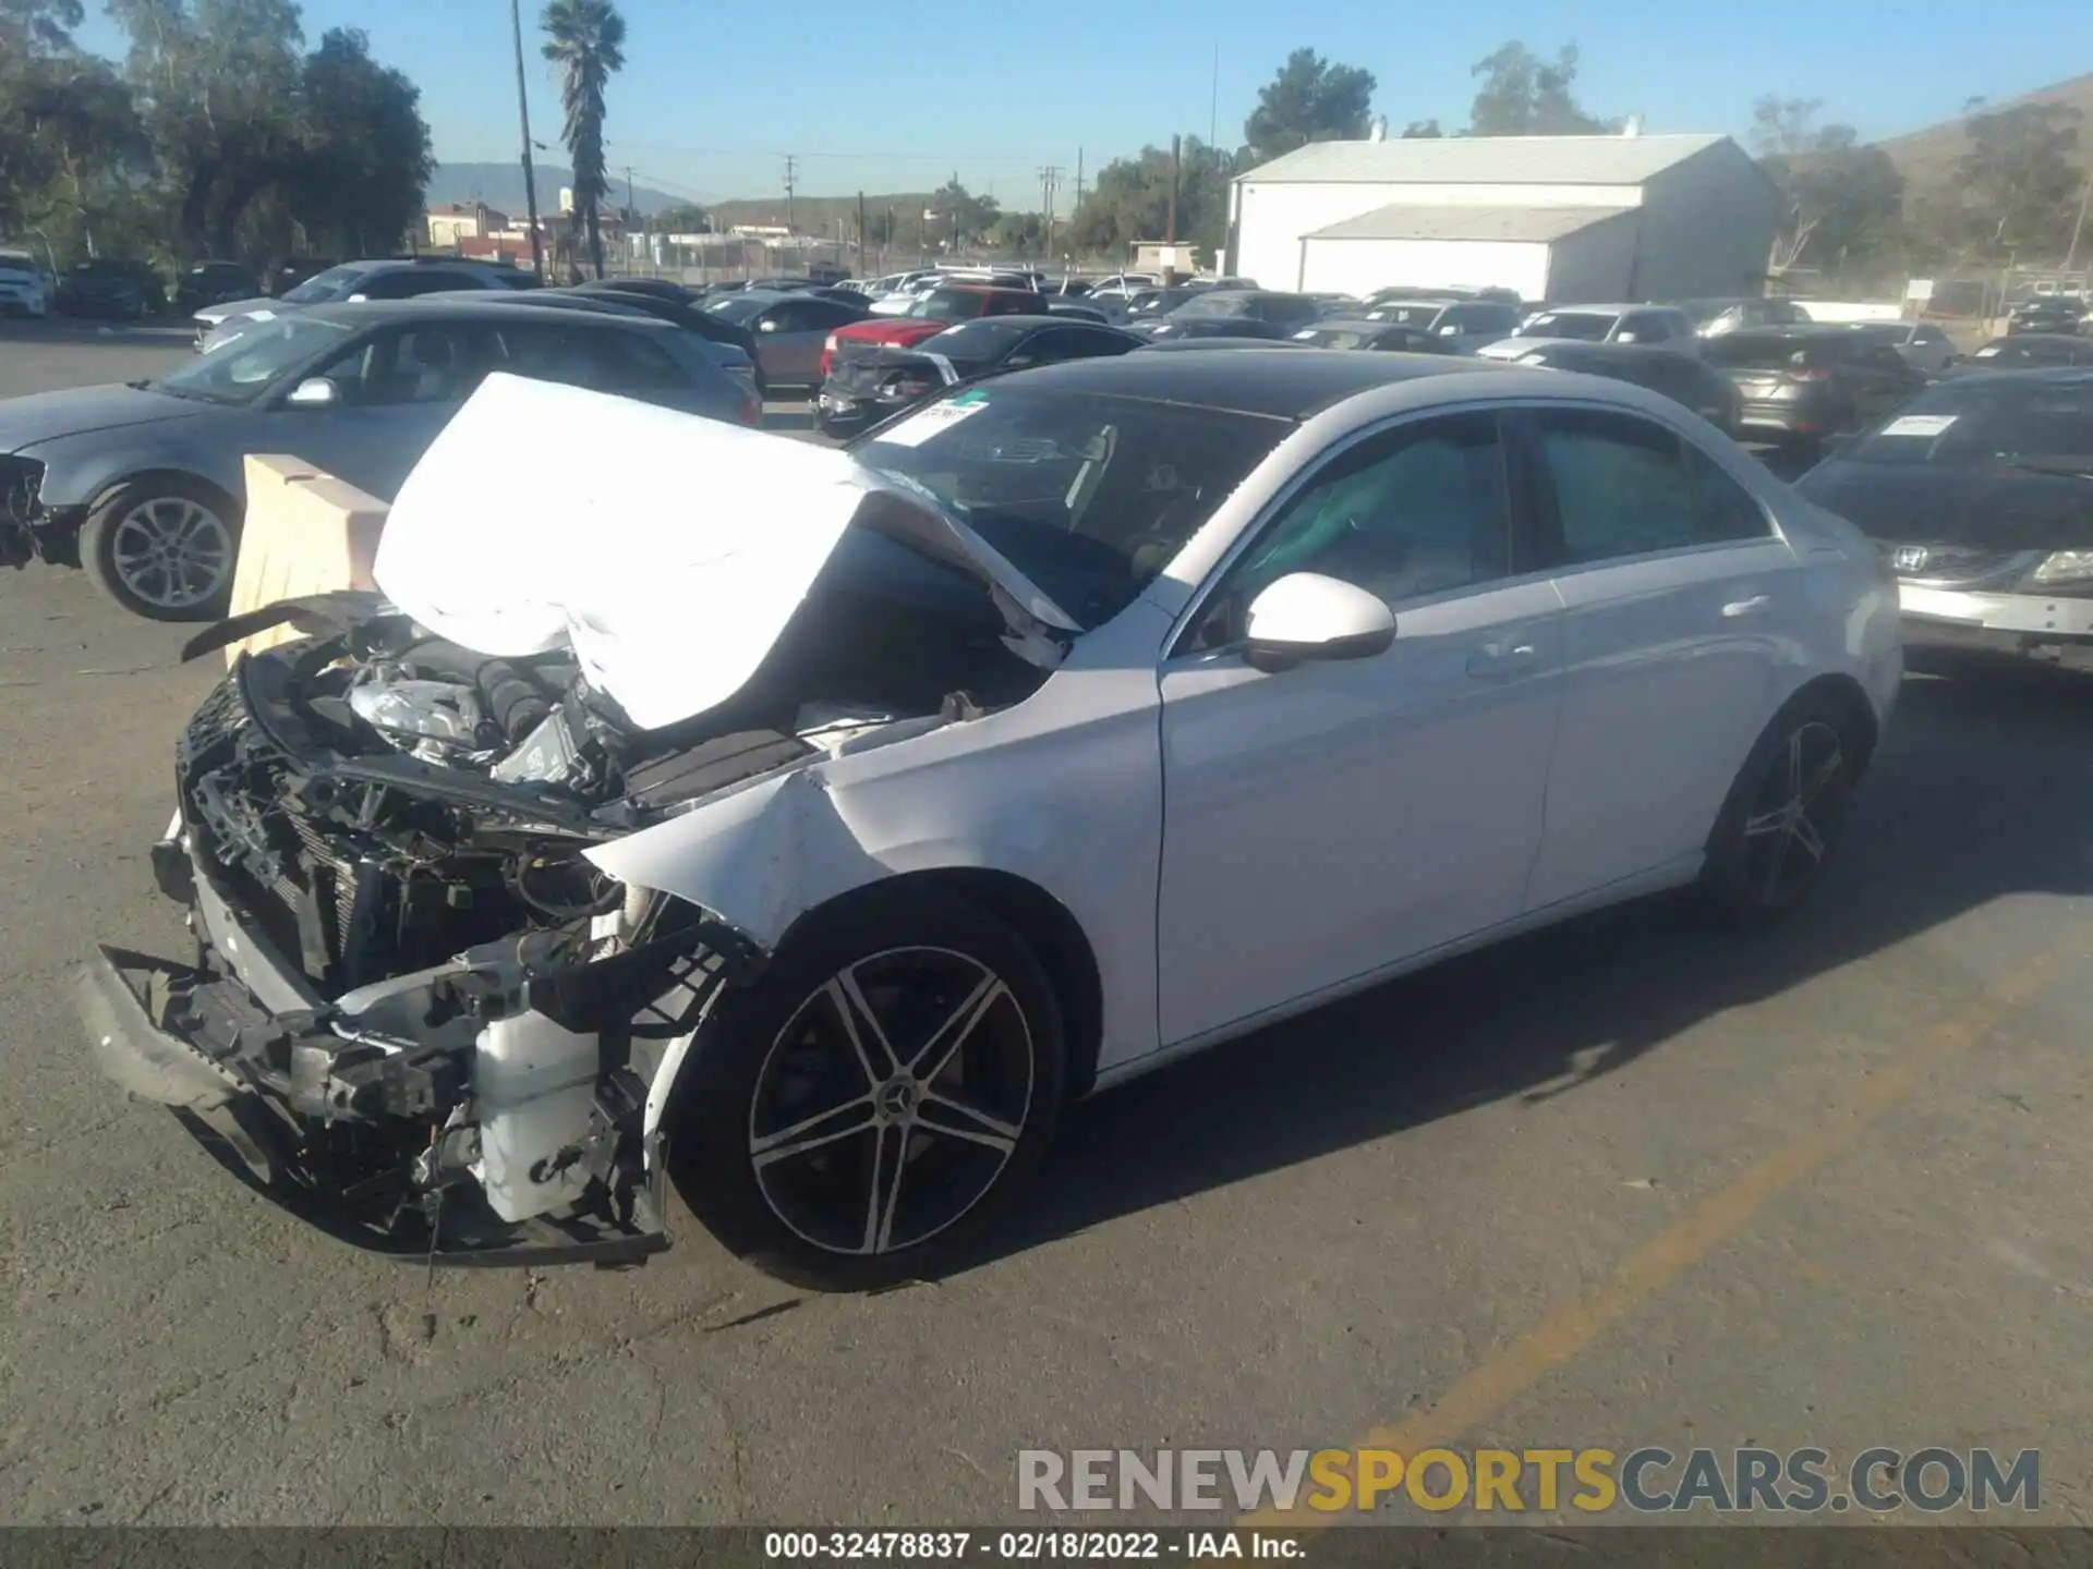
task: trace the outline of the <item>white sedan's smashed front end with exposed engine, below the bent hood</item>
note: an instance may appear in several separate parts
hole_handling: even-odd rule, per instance
[[[287,619],[308,636],[243,655],[176,747],[153,862],[199,960],[103,950],[82,1006],[105,1067],[234,1172],[341,1236],[454,1261],[663,1245],[643,1111],[766,958],[584,851],[1046,674],[977,582],[875,533],[846,538],[741,690],[657,730],[567,651],[475,653],[379,596],[272,607],[190,655]],[[121,1040],[149,1046],[111,1061]]]

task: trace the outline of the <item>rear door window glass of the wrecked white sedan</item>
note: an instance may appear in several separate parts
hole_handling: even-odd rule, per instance
[[[1766,538],[1771,525],[1708,454],[1662,425],[1607,410],[1534,414],[1561,523],[1561,561],[1589,565]]]

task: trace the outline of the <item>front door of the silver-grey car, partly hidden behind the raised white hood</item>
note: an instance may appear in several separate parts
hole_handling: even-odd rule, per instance
[[[295,452],[391,500],[479,385],[492,354],[492,335],[473,322],[377,331],[303,377],[331,381],[337,402],[299,406],[278,397],[262,416],[270,446],[257,450]]]

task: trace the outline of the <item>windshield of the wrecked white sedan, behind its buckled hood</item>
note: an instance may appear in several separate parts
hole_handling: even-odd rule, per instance
[[[852,448],[927,490],[1084,628],[1147,588],[1291,420],[1021,383],[971,389]]]

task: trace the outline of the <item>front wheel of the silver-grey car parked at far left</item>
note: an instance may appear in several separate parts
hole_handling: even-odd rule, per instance
[[[134,479],[103,496],[80,529],[80,565],[98,590],[151,621],[209,621],[232,600],[241,519],[199,479]]]

